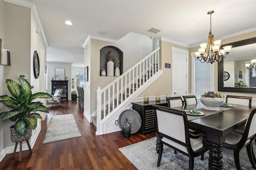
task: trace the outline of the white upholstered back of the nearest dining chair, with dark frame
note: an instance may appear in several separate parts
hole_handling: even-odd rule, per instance
[[[191,148],[188,121],[184,111],[153,105],[158,136],[168,138],[170,145],[188,154]]]

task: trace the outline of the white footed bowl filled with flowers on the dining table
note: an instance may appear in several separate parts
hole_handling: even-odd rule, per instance
[[[219,111],[218,107],[224,102],[224,95],[214,91],[207,91],[202,94],[200,101],[205,105],[205,110]]]

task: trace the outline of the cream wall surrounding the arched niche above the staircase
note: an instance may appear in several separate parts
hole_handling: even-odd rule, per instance
[[[90,115],[92,116],[96,114],[97,88],[101,87],[101,89],[103,89],[106,87],[106,85],[116,79],[116,77],[99,75],[100,49],[108,45],[119,48],[123,52],[123,72],[125,72],[153,51],[153,40],[151,37],[130,32],[121,38],[117,43],[110,43],[93,39],[90,43],[90,53],[85,53],[84,56],[84,62],[86,66],[86,64],[89,65],[88,61],[86,60],[86,54],[90,55],[89,82],[85,83],[85,100],[87,100],[88,103],[85,103],[84,111],[89,113],[90,109]],[[87,86],[87,84],[89,86]],[[87,91],[90,91],[90,97],[87,95],[89,93]]]

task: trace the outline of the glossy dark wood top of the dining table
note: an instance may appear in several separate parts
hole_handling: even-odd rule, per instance
[[[200,109],[202,103],[180,107],[180,110]],[[175,109],[178,109],[176,107]],[[206,133],[207,140],[221,144],[226,134],[246,123],[251,111],[256,107],[240,106],[226,111],[188,121],[189,128]]]

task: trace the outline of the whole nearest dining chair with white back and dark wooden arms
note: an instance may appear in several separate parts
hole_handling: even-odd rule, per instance
[[[188,131],[188,119],[185,111],[178,111],[168,107],[153,105],[156,117],[156,132],[159,140],[159,154],[157,167],[160,166],[163,145],[189,157],[189,170],[194,168],[194,158],[201,156],[204,159],[204,152],[208,145],[204,135],[191,136]]]

